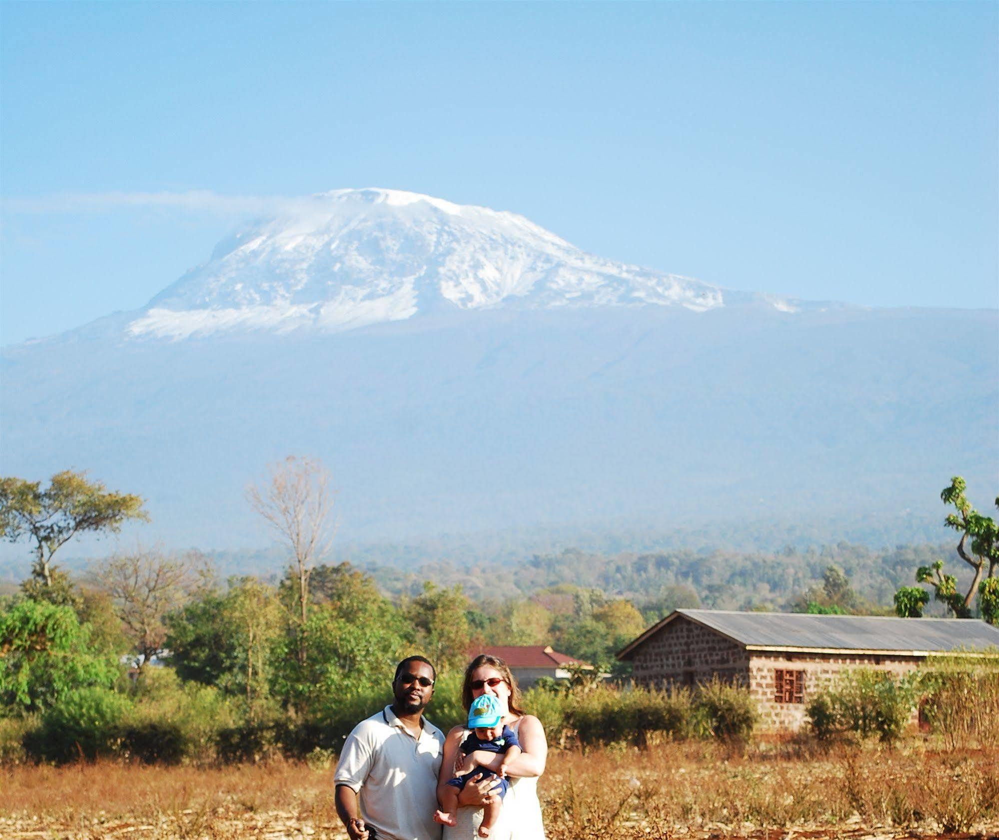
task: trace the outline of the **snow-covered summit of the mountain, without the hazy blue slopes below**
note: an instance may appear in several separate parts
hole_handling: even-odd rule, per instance
[[[442,309],[703,312],[745,297],[595,257],[513,213],[399,190],[335,190],[220,244],[127,329],[170,339],[246,329],[341,332]],[[798,307],[766,300],[783,312]]]

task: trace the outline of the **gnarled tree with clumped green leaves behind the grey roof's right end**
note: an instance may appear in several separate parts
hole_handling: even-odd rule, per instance
[[[971,506],[965,494],[966,489],[964,478],[955,475],[950,484],[940,491],[940,498],[945,504],[953,505],[957,511],[950,513],[944,523],[961,534],[957,542],[957,554],[974,572],[971,585],[967,592],[961,594],[957,577],[944,573],[943,560],[919,566],[916,569],[916,582],[932,586],[936,600],[946,604],[958,618],[971,618],[974,615],[972,603],[977,594],[982,617],[995,624],[999,621],[999,583],[993,582],[997,580],[996,568],[999,566],[999,527],[991,516],[983,516]],[[999,497],[995,503],[999,507]],[[901,591],[895,597],[895,609],[899,615],[903,615],[903,611],[910,607],[912,597],[901,595],[899,607]],[[900,609],[903,611],[899,611]]]

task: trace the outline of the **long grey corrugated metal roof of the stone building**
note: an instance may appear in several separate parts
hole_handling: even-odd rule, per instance
[[[999,649],[999,627],[969,618],[895,618],[678,609],[740,644],[840,650],[956,651]]]

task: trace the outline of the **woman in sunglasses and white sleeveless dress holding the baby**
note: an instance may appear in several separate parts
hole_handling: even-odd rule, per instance
[[[500,706],[506,710],[502,723],[516,733],[522,749],[506,768],[511,783],[502,800],[500,821],[493,829],[490,840],[544,840],[541,806],[537,801],[537,777],[544,772],[548,753],[544,729],[536,717],[524,714],[520,708],[520,689],[506,663],[485,653],[473,659],[465,669],[462,704],[466,711],[472,706],[472,701],[483,694],[492,694],[500,700]],[[438,780],[439,791],[454,775],[459,748],[468,734],[469,730],[463,726],[456,726],[448,733]],[[493,762],[486,766],[497,771],[501,760],[502,755],[497,754]],[[444,840],[479,840],[482,805],[488,798],[482,790],[486,784],[466,785],[459,799],[459,805],[463,807],[458,809],[458,825],[444,827]]]

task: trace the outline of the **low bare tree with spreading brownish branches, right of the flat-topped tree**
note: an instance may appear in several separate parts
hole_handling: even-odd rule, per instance
[[[139,547],[113,554],[94,568],[94,577],[111,596],[139,654],[140,677],[149,661],[163,652],[167,636],[163,619],[180,607],[196,586],[202,563],[201,555],[195,552],[169,556],[159,549]]]

